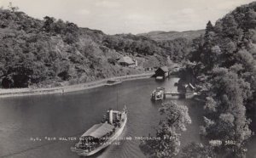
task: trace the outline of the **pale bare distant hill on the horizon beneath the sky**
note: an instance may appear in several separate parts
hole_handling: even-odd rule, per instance
[[[186,38],[188,40],[200,37],[205,33],[205,30],[198,31],[150,31],[148,33],[137,34],[138,36],[149,37],[155,41],[174,40],[177,38]]]

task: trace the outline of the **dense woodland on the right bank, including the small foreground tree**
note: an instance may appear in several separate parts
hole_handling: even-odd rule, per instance
[[[205,103],[203,143],[180,149],[177,133],[182,135],[180,127],[189,124],[189,116],[183,105],[168,103],[160,108],[166,120],[160,121],[156,136],[171,141],[143,141],[142,150],[162,158],[175,157],[177,151],[184,158],[246,157],[247,143],[256,132],[256,3],[236,8],[215,25],[209,21],[205,35],[193,40],[187,59],[182,82],[196,85]]]

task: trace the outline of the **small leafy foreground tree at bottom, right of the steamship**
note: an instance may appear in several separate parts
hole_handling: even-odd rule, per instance
[[[191,123],[188,108],[174,102],[162,104],[160,114],[166,119],[161,120],[156,129],[156,139],[143,140],[140,144],[145,155],[157,158],[174,157],[180,146],[180,133]],[[148,136],[150,138],[150,134]]]

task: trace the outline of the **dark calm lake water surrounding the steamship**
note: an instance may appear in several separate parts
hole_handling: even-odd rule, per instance
[[[174,90],[174,82],[177,78],[166,82],[143,79],[76,93],[0,99],[0,157],[81,157],[70,150],[77,141],[49,141],[45,137],[79,138],[102,120],[108,108],[116,109],[117,103],[119,110],[124,104],[129,110],[122,134],[131,136],[132,140],[109,146],[92,157],[145,157],[138,148],[140,142],[134,137],[154,133],[160,120],[160,102],[151,102],[150,93],[160,86]],[[187,132],[183,133],[182,145],[200,141],[201,105],[192,100],[175,100],[188,106],[192,119]],[[30,138],[41,138],[41,141]]]

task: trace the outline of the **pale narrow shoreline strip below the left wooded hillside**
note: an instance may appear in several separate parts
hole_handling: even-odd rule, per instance
[[[154,72],[143,73],[139,75],[129,75],[129,76],[114,76],[106,79],[102,79],[96,82],[84,82],[70,86],[63,87],[43,87],[43,88],[12,88],[12,89],[0,89],[0,98],[9,98],[9,97],[20,97],[20,96],[32,96],[32,95],[44,95],[44,94],[53,94],[53,93],[70,93],[76,91],[82,91],[86,89],[92,89],[96,87],[107,86],[108,80],[120,80],[121,82],[137,80],[143,78],[149,78],[154,75]],[[114,84],[113,84],[114,85]]]

